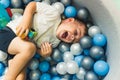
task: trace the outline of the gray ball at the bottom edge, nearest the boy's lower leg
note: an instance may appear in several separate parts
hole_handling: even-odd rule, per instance
[[[30,80],[38,80],[41,76],[41,73],[39,70],[32,70],[29,73]]]

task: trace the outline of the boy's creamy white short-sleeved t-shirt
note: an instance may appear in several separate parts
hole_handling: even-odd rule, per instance
[[[44,2],[36,3],[36,13],[33,17],[32,28],[38,33],[33,41],[40,47],[42,42],[50,42],[52,47],[57,47],[60,40],[56,37],[56,29],[61,22],[61,14],[58,10]],[[22,16],[19,19],[10,21],[9,26],[15,33],[16,27],[22,20]]]

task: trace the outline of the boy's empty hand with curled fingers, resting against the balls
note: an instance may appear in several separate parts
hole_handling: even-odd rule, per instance
[[[40,54],[43,57],[48,57],[52,53],[52,45],[48,42],[44,42],[41,44]]]

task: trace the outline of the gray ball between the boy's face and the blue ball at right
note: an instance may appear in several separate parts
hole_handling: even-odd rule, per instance
[[[80,39],[80,45],[83,49],[90,48],[92,46],[92,38],[90,36],[84,36]]]

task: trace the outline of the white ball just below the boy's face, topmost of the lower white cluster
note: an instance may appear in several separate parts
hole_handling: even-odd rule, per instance
[[[83,51],[83,49],[81,48],[79,43],[73,43],[70,47],[70,52],[73,55],[79,55],[82,53],[82,51]]]

